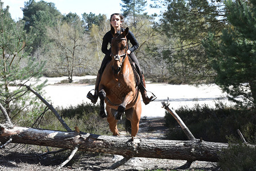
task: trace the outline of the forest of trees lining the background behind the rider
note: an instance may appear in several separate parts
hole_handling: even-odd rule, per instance
[[[139,41],[135,54],[147,81],[216,83],[236,107],[254,109],[256,0],[152,2],[151,7],[166,10],[148,15],[144,0],[120,5],[123,27]],[[7,113],[0,123],[36,118],[45,110],[24,86],[31,79],[67,76],[72,83],[73,76],[97,74],[102,38],[110,28],[105,14],[63,15],[54,3],[29,0],[23,18],[14,21],[9,7],[3,8],[1,0],[0,5],[0,108]],[[40,93],[46,82],[30,86]],[[255,130],[255,124],[250,128]]]

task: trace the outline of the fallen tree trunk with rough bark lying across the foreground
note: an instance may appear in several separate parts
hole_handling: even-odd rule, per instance
[[[1,128],[0,141],[11,143],[52,146],[64,149],[118,154],[126,157],[166,158],[189,161],[218,161],[218,155],[228,144],[201,140],[176,141],[135,139],[92,135],[90,133],[62,132],[44,129],[14,127]]]

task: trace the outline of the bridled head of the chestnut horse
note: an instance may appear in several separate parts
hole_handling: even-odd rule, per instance
[[[128,32],[128,27],[124,32],[115,32],[115,29],[113,27],[111,28],[111,34],[113,35],[113,39],[111,41],[111,57],[113,60],[112,68],[115,74],[119,73],[123,61],[127,56],[128,42],[126,36]]]

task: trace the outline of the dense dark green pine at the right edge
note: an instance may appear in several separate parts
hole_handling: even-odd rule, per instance
[[[226,1],[229,28],[204,40],[216,83],[238,105],[256,104],[256,3]],[[242,100],[237,97],[242,96]]]

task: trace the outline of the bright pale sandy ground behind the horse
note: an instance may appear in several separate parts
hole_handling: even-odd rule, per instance
[[[74,77],[74,83],[80,79],[94,79],[96,76]],[[43,78],[45,79],[45,78]],[[68,107],[83,102],[90,103],[86,95],[94,89],[94,85],[86,84],[55,84],[66,78],[48,78],[48,86],[44,88],[48,100],[51,100],[54,107]],[[153,92],[157,99],[148,105],[142,103],[141,117],[164,117],[165,109],[162,108],[161,101],[168,101],[169,107],[177,109],[181,106],[192,107],[194,104],[208,104],[214,107],[216,101],[222,101],[227,105],[231,105],[226,99],[226,93],[222,93],[221,89],[215,84],[189,86],[189,85],[172,85],[165,83],[147,83],[147,90]],[[148,92],[148,95],[151,95]],[[98,100],[99,103],[99,100]]]

